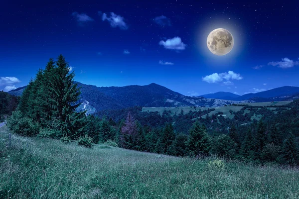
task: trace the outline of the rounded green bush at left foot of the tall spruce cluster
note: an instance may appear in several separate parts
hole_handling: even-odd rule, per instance
[[[39,132],[39,125],[28,117],[21,118],[12,128],[15,133],[25,136],[35,136]]]

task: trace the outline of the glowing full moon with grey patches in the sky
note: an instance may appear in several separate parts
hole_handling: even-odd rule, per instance
[[[213,54],[226,55],[233,49],[234,37],[228,30],[218,28],[210,32],[207,45]]]

